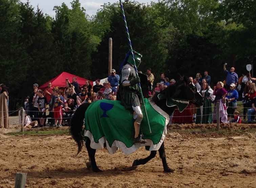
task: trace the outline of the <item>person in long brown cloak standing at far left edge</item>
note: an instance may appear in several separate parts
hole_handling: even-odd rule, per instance
[[[0,128],[8,128],[8,91],[4,84],[0,84]]]

